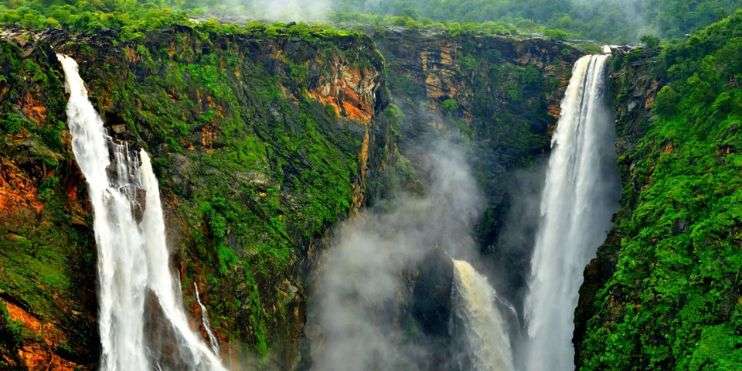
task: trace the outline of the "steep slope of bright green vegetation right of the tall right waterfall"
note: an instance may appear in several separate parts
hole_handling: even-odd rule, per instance
[[[737,12],[654,57],[650,73],[666,85],[620,158],[623,204],[602,248],[617,263],[590,304],[584,369],[742,364],[741,22]],[[645,53],[656,51],[634,51],[616,68]]]

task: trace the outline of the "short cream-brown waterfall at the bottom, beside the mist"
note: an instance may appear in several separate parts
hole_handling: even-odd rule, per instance
[[[456,331],[457,358],[462,370],[513,370],[510,339],[496,301],[495,290],[487,278],[462,260],[454,260],[453,308],[455,321],[462,329]]]

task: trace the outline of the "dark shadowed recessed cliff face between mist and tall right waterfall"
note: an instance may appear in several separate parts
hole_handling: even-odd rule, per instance
[[[513,175],[548,153],[559,103],[582,52],[551,40],[477,33],[399,28],[371,36],[387,62],[392,103],[404,117],[402,154],[421,163],[419,147],[442,138],[466,148],[486,196],[479,243],[491,256],[491,271],[503,274],[494,280],[498,292],[519,302],[532,243],[498,240],[519,197]]]

